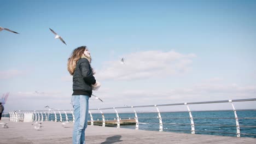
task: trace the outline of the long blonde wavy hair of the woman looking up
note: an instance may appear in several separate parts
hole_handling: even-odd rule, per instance
[[[80,58],[84,58],[84,51],[87,50],[86,46],[80,46],[77,47],[77,49],[74,49],[73,52],[71,53],[71,56],[68,58],[68,63],[67,63],[67,67],[68,67],[68,72],[69,74],[73,75],[74,74],[74,70],[75,67],[77,66],[77,61]],[[88,59],[89,62],[91,62],[91,58],[89,57],[85,57]]]

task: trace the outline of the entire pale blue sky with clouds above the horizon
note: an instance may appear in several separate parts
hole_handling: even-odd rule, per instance
[[[20,33],[0,32],[5,112],[72,109],[67,59],[83,45],[104,101],[91,98],[90,109],[256,98],[255,1],[1,0],[0,13],[0,26]],[[256,109],[256,101],[234,105]]]

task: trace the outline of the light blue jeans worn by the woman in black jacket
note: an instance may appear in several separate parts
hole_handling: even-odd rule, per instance
[[[71,99],[74,108],[74,130],[73,144],[85,143],[85,129],[87,128],[89,96],[72,95]]]

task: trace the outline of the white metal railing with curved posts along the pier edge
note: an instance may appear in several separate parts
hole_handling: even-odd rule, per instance
[[[128,118],[128,117],[120,117],[121,114],[123,113],[118,113],[118,110],[120,109],[132,109],[133,113],[133,121],[135,121],[135,129],[144,129],[143,127],[139,127],[139,122],[143,123],[143,124],[149,124],[149,125],[158,125],[158,130],[159,131],[190,131],[191,134],[196,134],[196,133],[217,133],[217,134],[230,134],[230,135],[236,135],[237,137],[240,137],[241,135],[251,135],[252,137],[256,137],[255,133],[241,133],[241,129],[240,128],[250,128],[250,129],[254,129],[254,131],[256,131],[256,121],[254,121],[254,123],[252,125],[240,125],[239,121],[238,121],[238,116],[237,116],[237,111],[235,109],[234,106],[234,102],[241,102],[241,101],[256,101],[256,98],[254,99],[236,99],[236,100],[219,100],[219,101],[201,101],[201,102],[193,102],[193,103],[176,103],[176,104],[161,104],[161,105],[141,105],[141,106],[123,106],[123,107],[108,107],[108,108],[98,108],[98,109],[90,109],[89,110],[89,123],[91,125],[101,125],[102,127],[105,126],[114,126],[117,128],[120,128],[120,123],[122,122],[123,118]],[[234,112],[233,117],[193,117],[193,113],[190,110],[190,105],[199,105],[199,104],[216,104],[216,103],[229,103],[230,106],[232,107],[232,111]],[[187,108],[188,111],[188,116],[189,117],[163,117],[161,114],[164,112],[160,112],[159,107],[163,107],[163,106],[179,106],[179,105],[184,105]],[[156,113],[156,118],[158,119],[158,121],[152,121],[151,119],[155,119],[154,113],[152,113],[150,115],[150,117],[138,117],[138,114],[136,112],[136,109],[138,108],[142,108],[142,107],[154,107],[155,108],[155,112]],[[109,113],[104,113],[103,111],[106,110],[113,110],[113,112]],[[256,112],[256,111],[255,111]],[[28,113],[31,113],[30,116],[31,117],[31,121],[54,121],[54,122],[63,122],[63,121],[74,121],[74,115],[73,115],[73,110],[54,110],[54,111],[12,111],[9,112],[9,119],[10,121],[13,122],[22,122],[24,121],[26,115]],[[127,113],[127,112],[126,112]],[[195,112],[196,113],[196,112]],[[94,116],[95,115],[95,118]],[[110,116],[106,116],[106,115],[110,115]],[[114,116],[115,115],[115,116]],[[129,116],[129,119],[131,115]],[[114,124],[106,124],[108,122],[108,118],[111,119],[111,121],[114,121]],[[97,121],[99,121],[99,119],[101,119],[101,123],[95,123],[97,121],[95,121],[95,119],[97,119]],[[114,119],[114,120],[113,120]],[[189,121],[184,122],[184,123],[170,123],[166,120],[170,120],[170,119],[179,119],[181,122],[183,122],[183,119],[188,119]],[[202,123],[200,123],[200,121],[204,119],[205,121]],[[226,120],[230,120],[230,119],[234,119],[234,124],[223,124],[222,121],[219,121],[220,123],[213,123],[211,121],[213,121],[214,119],[222,119],[222,121],[226,121]],[[246,120],[246,119],[256,119],[255,117],[240,117],[240,120]],[[165,120],[165,121],[163,121]],[[206,121],[207,120],[207,121]],[[208,121],[209,120],[209,121]],[[190,123],[188,123],[190,122]],[[164,128],[164,125],[171,125],[171,128]],[[176,127],[174,127],[174,125],[176,125]],[[188,129],[188,126],[190,127]],[[122,127],[126,127],[123,126]],[[184,128],[185,129],[181,129]],[[212,130],[202,130],[202,129],[196,129],[195,127],[202,127],[202,128],[211,128],[211,127],[218,127],[218,128],[236,128],[236,131],[212,131]],[[132,128],[132,127],[130,127]],[[146,129],[149,130],[155,130],[155,128],[153,127],[148,127]],[[253,131],[253,130],[252,130]]]

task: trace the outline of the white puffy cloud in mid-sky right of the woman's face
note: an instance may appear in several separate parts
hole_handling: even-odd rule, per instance
[[[125,55],[125,64],[119,61],[104,63],[103,69],[97,71],[98,80],[133,80],[149,77],[166,77],[173,74],[186,73],[195,55],[169,51],[144,51]]]

